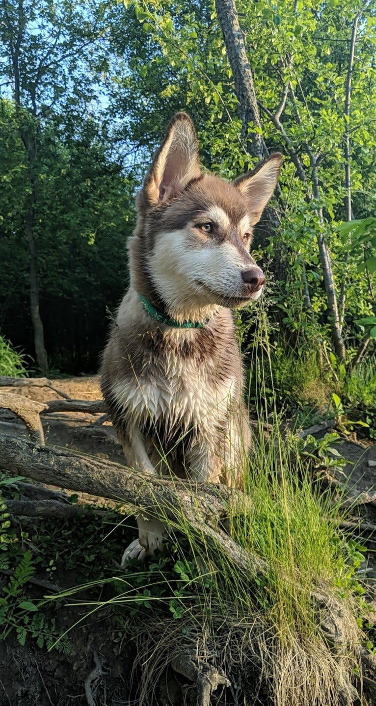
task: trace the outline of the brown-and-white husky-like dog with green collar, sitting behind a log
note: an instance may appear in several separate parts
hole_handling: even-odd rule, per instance
[[[102,357],[101,385],[129,467],[239,486],[249,453],[232,309],[259,299],[252,227],[282,155],[232,184],[201,171],[194,125],[170,122],[136,198],[130,284]],[[128,558],[152,555],[165,525],[139,515]]]

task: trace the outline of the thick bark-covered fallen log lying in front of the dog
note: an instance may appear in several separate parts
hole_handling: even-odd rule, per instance
[[[245,503],[242,493],[226,486],[160,478],[117,463],[37,446],[4,433],[0,433],[0,470],[125,503],[135,515],[139,511],[163,517],[172,526],[181,526],[183,517],[210,544],[223,546],[239,570],[248,575],[264,568],[261,559],[242,549],[220,529],[230,505],[244,507]]]

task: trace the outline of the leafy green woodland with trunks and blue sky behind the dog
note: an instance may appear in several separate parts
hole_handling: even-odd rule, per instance
[[[186,109],[204,167],[225,178],[286,155],[255,241],[276,345],[346,364],[372,355],[374,2],[4,0],[0,19],[1,327],[13,344],[35,357],[42,323],[49,365],[95,369],[126,285],[134,193]]]

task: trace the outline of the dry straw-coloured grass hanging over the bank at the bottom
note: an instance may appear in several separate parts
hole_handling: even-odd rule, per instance
[[[336,606],[334,599],[333,611]],[[281,632],[269,616],[256,612],[240,618],[234,610],[208,619],[198,607],[197,613],[189,611],[187,635],[180,621],[169,618],[156,619],[142,631],[138,624],[134,669],[141,674],[139,705],[153,702],[156,675],[171,664],[197,683],[199,706],[210,703],[216,683],[241,683],[247,703],[261,692],[275,706],[353,706],[359,696],[351,680],[360,668],[362,635],[351,605],[341,606],[341,621],[343,635],[337,630],[334,645],[313,626],[309,636],[305,630],[300,635],[296,626]]]

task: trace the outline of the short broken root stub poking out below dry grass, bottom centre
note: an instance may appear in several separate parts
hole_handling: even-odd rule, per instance
[[[172,669],[194,681],[198,689],[197,706],[210,706],[210,698],[218,686],[231,686],[222,669],[200,662],[190,654],[180,654],[172,659]]]

